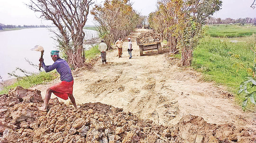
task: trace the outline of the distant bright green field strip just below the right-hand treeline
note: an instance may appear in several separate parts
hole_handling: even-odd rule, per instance
[[[256,26],[246,25],[209,25],[206,35],[211,37],[246,37],[256,33]]]

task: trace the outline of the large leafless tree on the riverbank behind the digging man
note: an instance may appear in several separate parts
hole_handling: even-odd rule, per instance
[[[68,57],[73,68],[83,65],[83,27],[92,0],[30,0],[31,10],[41,13],[40,18],[51,20],[59,29],[57,40],[60,50]]]

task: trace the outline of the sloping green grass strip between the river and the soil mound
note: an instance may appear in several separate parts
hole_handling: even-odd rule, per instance
[[[50,73],[41,72],[37,75],[35,74],[35,75],[21,77],[18,79],[17,82],[13,83],[12,85],[6,86],[2,90],[0,90],[0,94],[7,94],[10,89],[14,89],[17,86],[21,86],[25,89],[28,89],[31,86],[50,82],[59,76],[56,74],[56,72],[57,71],[54,70]]]

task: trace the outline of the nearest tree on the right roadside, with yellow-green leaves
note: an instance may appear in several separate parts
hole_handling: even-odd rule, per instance
[[[203,37],[206,18],[220,10],[220,0],[170,0],[167,3],[171,13],[174,13],[174,35],[178,38],[178,48],[181,50],[182,66],[190,66],[193,50]]]

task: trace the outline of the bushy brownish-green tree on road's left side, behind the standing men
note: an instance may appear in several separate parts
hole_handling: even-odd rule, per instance
[[[142,23],[132,9],[129,0],[105,0],[103,5],[96,5],[91,14],[98,24],[100,38],[106,41],[108,48],[118,37],[124,37]]]

